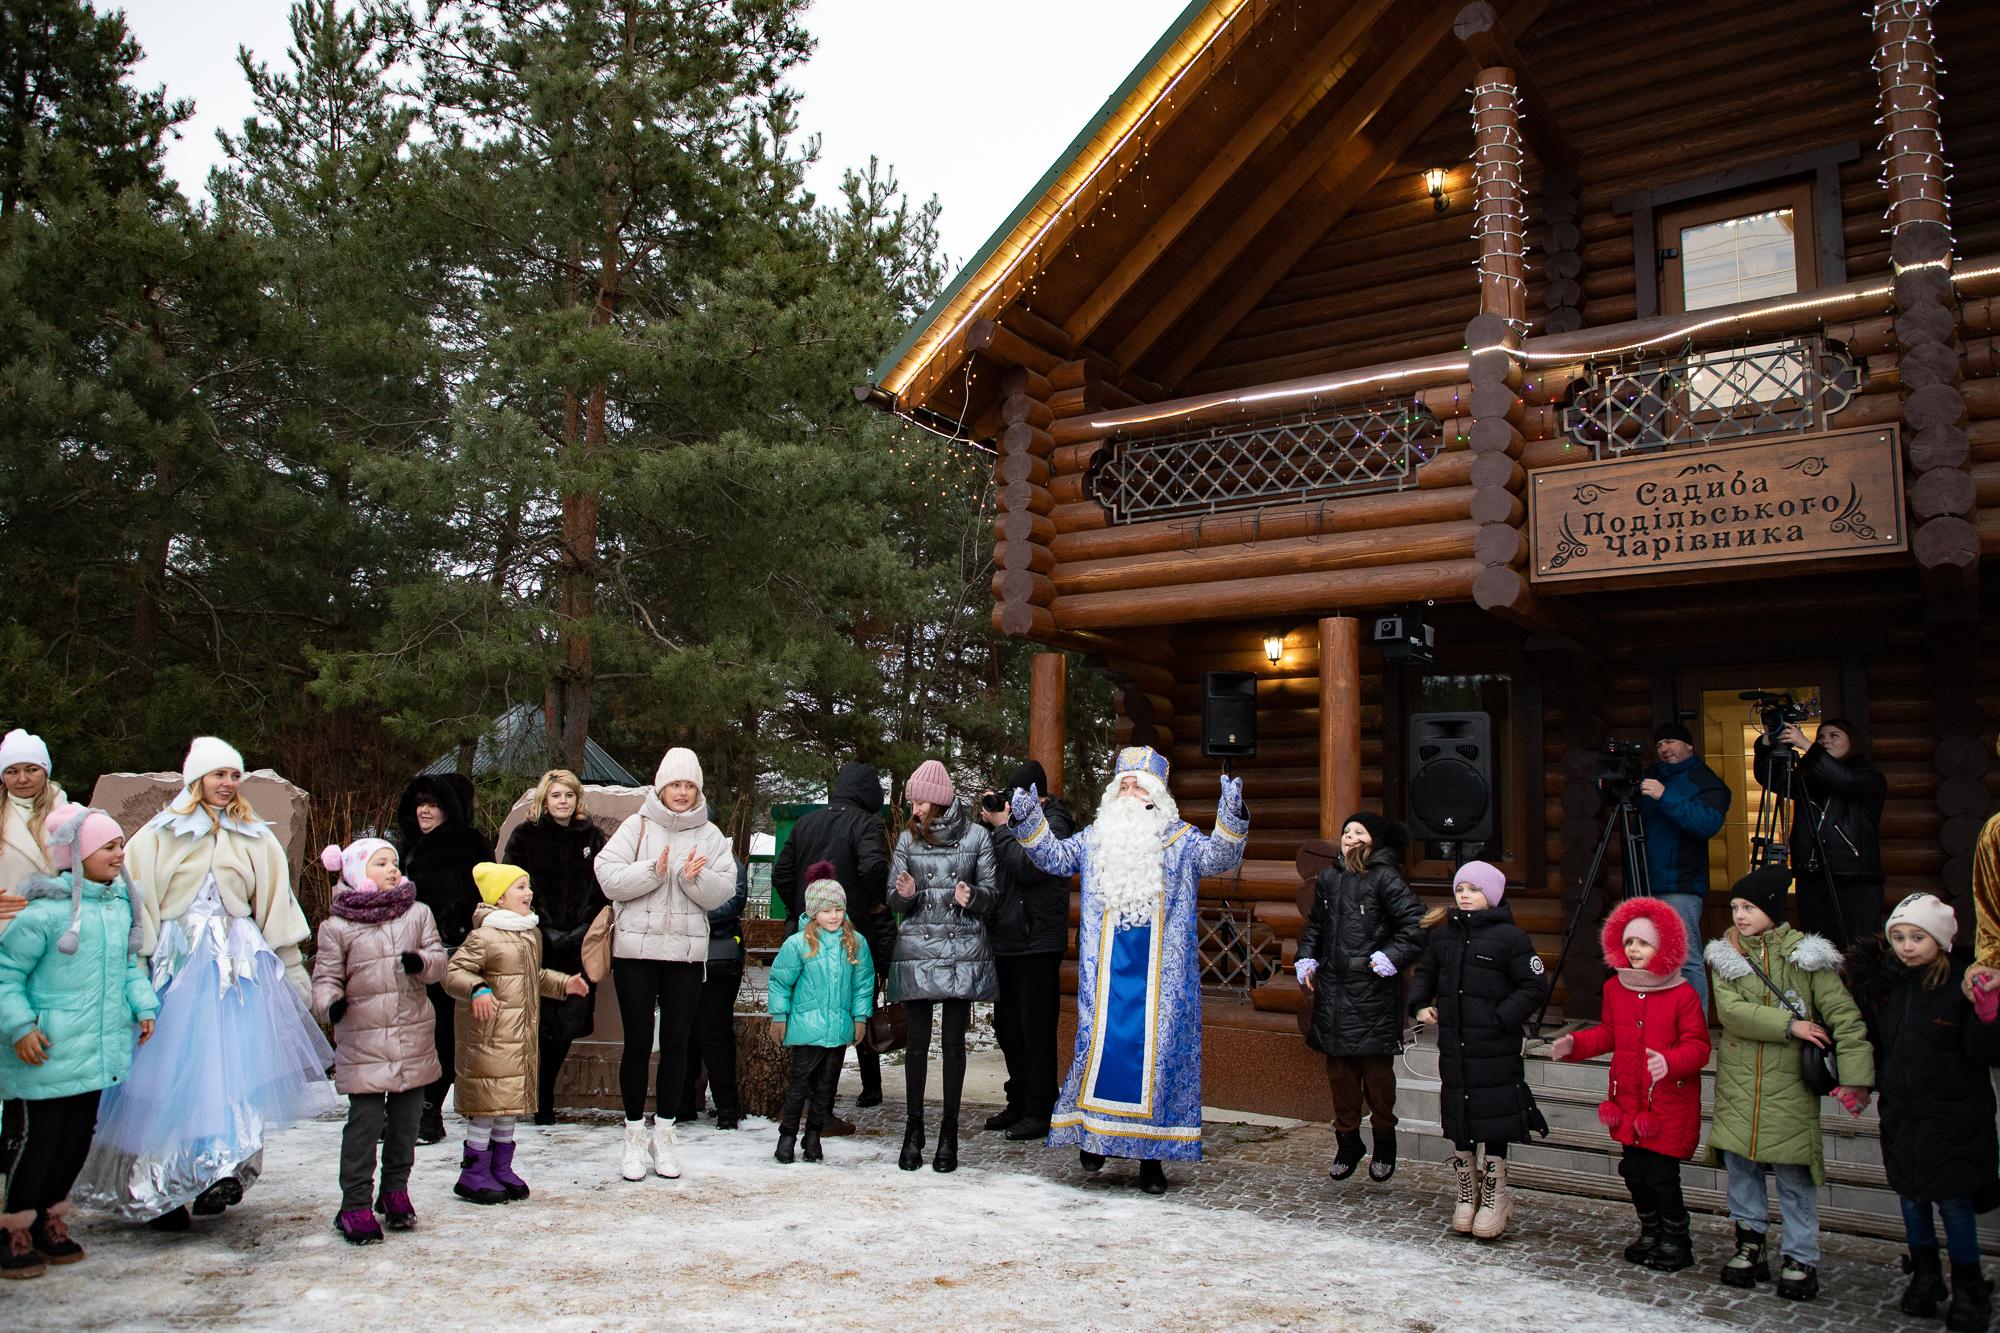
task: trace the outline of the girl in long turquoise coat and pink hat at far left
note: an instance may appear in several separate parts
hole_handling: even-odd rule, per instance
[[[56,875],[20,887],[28,907],[0,935],[0,1095],[26,1133],[8,1163],[0,1277],[76,1263],[68,1195],[90,1153],[98,1095],[132,1069],[132,1029],[152,1037],[160,997],[140,965],[124,831],[104,811],[48,817]]]

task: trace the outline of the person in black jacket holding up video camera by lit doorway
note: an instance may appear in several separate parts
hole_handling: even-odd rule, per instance
[[[1756,743],[1756,781],[1782,785],[1774,771],[1792,759],[1792,871],[1798,875],[1798,925],[1836,947],[1868,939],[1882,923],[1882,801],[1888,783],[1868,767],[1854,743],[1854,725],[1840,717],[1820,723],[1806,741],[1796,721]],[[1804,755],[1796,755],[1804,751]]]

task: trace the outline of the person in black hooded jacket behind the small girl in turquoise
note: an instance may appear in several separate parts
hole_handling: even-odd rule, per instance
[[[882,833],[882,775],[874,765],[846,763],[834,775],[826,807],[812,811],[784,841],[770,871],[770,895],[784,911],[786,933],[798,929],[804,911],[806,867],[834,863],[834,879],[848,891],[848,921],[868,941],[876,985],[888,977],[896,951],[896,919],[888,911],[888,839]],[[882,1103],[882,1057],[856,1049],[862,1067],[860,1107]]]

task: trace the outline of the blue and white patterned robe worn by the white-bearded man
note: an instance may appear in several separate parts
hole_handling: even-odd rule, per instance
[[[1226,807],[1226,799],[1224,799]],[[1070,839],[1036,817],[1016,833],[1050,875],[1084,877],[1076,939],[1076,1055],[1050,1115],[1050,1147],[1106,1157],[1202,1159],[1202,879],[1244,857],[1250,821],[1216,811],[1214,835],[1174,823],[1164,843],[1164,903],[1150,925],[1114,927],[1090,867],[1090,831]]]

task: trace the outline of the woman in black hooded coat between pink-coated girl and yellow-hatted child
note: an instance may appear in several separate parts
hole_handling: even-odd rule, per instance
[[[420,773],[396,803],[396,855],[402,873],[416,885],[416,901],[438,921],[444,947],[458,949],[472,933],[472,909],[480,889],[472,867],[494,859],[492,841],[472,825],[472,781],[460,773]],[[416,1141],[444,1139],[444,1095],[452,1089],[458,1059],[458,1001],[444,987],[428,987],[430,1011],[438,1019],[438,1067],[444,1071],[424,1091],[424,1119]]]

